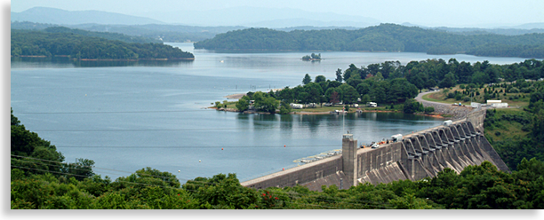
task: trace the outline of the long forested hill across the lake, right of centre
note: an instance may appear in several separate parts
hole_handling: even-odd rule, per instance
[[[262,51],[410,51],[430,54],[544,58],[544,34],[455,35],[395,24],[357,30],[248,28],[195,43],[196,49]]]

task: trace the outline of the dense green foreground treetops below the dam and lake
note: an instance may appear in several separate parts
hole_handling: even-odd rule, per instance
[[[544,162],[535,158],[522,159],[512,173],[484,161],[459,174],[444,169],[419,181],[322,186],[322,192],[300,185],[253,190],[236,174],[182,184],[152,168],[112,181],[93,166],[87,159],[65,163],[11,112],[11,209],[544,209]]]

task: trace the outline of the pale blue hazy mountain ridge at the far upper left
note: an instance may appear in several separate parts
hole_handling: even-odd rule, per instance
[[[23,12],[11,12],[12,21],[30,21],[49,24],[76,25],[85,23],[95,24],[164,24],[159,20],[125,15],[114,12],[100,11],[66,11],[48,7],[34,7]]]

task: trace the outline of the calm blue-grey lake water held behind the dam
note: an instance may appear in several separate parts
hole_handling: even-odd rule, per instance
[[[350,64],[455,58],[493,64],[521,58],[405,52],[214,52],[169,43],[193,61],[74,62],[12,59],[11,106],[28,130],[66,156],[95,161],[95,173],[125,177],[151,167],[182,183],[236,173],[240,180],[297,166],[293,161],[341,149],[349,130],[358,143],[408,134],[440,124],[412,114],[264,115],[206,109],[230,94],[299,85],[304,75],[335,78]],[[315,51],[319,52],[319,51]],[[252,89],[254,88],[254,89]]]

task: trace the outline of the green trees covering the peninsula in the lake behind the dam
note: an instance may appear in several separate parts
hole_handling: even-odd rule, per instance
[[[345,70],[337,69],[335,79],[326,79],[324,75],[316,75],[314,79],[305,75],[300,85],[293,88],[285,87],[282,90],[268,93],[258,92],[261,97],[275,98],[276,102],[268,101],[269,112],[274,114],[276,109],[280,113],[289,114],[290,103],[343,103],[354,104],[377,102],[379,105],[404,104],[408,101],[404,112],[432,112],[434,109],[425,109],[415,98],[420,90],[434,87],[451,88],[457,84],[468,84],[472,87],[483,86],[488,83],[512,82],[525,79],[538,80],[544,78],[544,61],[526,59],[520,63],[508,65],[490,64],[489,61],[470,62],[457,59],[427,59],[411,61],[405,66],[399,61],[385,61],[380,64],[370,64],[367,67],[356,67],[351,64]],[[522,83],[523,84],[523,83]],[[513,85],[504,85],[508,92],[525,90],[530,93],[533,87],[514,89]],[[505,91],[506,92],[506,91]],[[468,94],[459,95],[460,99]],[[491,98],[491,97],[490,97]],[[237,102],[237,108],[245,111],[249,108],[252,93]],[[256,100],[260,103],[259,100]],[[279,104],[282,105],[279,105]],[[270,105],[270,106],[268,106]],[[260,109],[257,109],[260,110]]]

